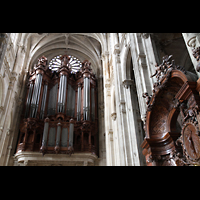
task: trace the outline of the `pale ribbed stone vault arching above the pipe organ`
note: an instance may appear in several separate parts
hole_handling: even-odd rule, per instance
[[[29,51],[28,65],[33,67],[40,56],[50,61],[56,55],[68,54],[80,61],[89,60],[99,74],[101,53],[106,47],[103,33],[26,33],[23,43]]]

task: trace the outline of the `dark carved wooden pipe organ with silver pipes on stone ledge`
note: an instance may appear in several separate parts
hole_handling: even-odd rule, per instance
[[[17,152],[98,153],[96,78],[87,60],[73,74],[69,59],[52,72],[43,56],[30,73]]]

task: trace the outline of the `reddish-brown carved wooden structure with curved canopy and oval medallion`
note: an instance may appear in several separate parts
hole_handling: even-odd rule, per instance
[[[153,95],[143,94],[147,112],[141,147],[148,166],[200,165],[200,84],[171,57],[156,65]]]

